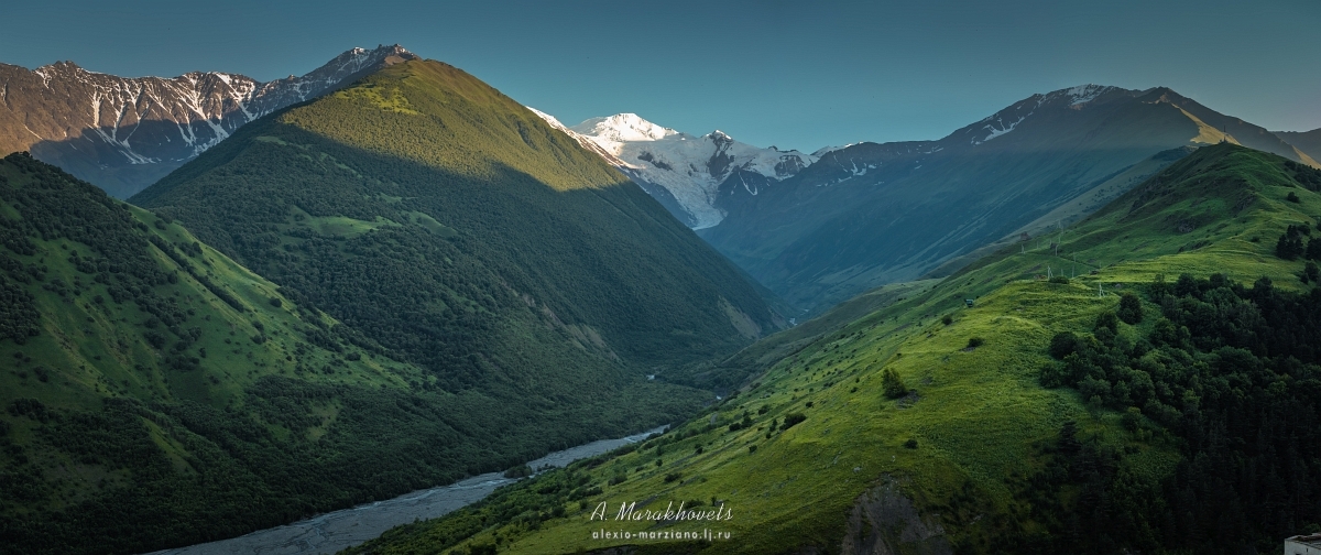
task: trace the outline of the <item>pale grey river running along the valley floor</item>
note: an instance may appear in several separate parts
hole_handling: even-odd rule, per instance
[[[579,459],[605,453],[620,445],[638,443],[664,427],[649,429],[627,437],[592,441],[556,451],[535,461],[531,468],[567,466]],[[312,555],[333,554],[379,536],[386,530],[417,519],[441,517],[489,496],[495,488],[517,480],[498,472],[474,476],[458,482],[423,489],[394,500],[358,505],[299,521],[292,525],[258,530],[238,538],[222,539],[173,550],[153,551],[148,555]]]

